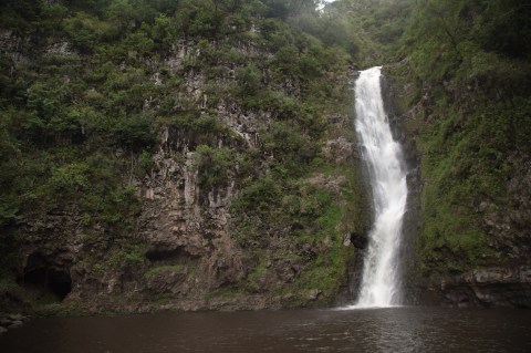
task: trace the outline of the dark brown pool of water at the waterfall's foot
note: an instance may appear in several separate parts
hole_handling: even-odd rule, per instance
[[[531,314],[391,308],[34,320],[0,352],[531,352]]]

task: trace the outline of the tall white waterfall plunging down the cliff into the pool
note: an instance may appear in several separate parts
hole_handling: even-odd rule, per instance
[[[381,69],[362,71],[355,84],[355,126],[368,166],[375,214],[354,308],[400,304],[397,253],[406,210],[406,168],[384,111]]]

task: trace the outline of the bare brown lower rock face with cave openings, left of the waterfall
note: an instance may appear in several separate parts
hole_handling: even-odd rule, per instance
[[[334,157],[352,158],[341,150],[335,150]],[[238,190],[233,184],[201,190],[197,170],[190,165],[192,153],[186,153],[183,163],[171,158],[173,153],[162,149],[155,157],[158,172],[138,183],[143,207],[128,239],[108,243],[103,240],[105,229],[94,229],[87,236],[75,210],[50,212],[27,222],[28,238],[20,250],[18,271],[32,298],[55,297],[67,310],[81,312],[256,310],[334,300],[335,294],[321,297],[319,284],[279,294],[281,289],[289,290],[309,264],[278,258],[269,260],[261,272],[258,291],[243,290],[256,271],[256,260],[249,259],[253,249],[243,249],[231,233],[230,200]],[[339,190],[344,181],[319,175],[308,180],[332,190]],[[341,241],[345,249],[351,247],[348,236]],[[292,245],[279,239],[274,247],[285,251]],[[131,248],[133,251],[123,251]],[[301,251],[313,257],[323,250],[308,243]],[[350,262],[351,271],[362,266],[362,258],[356,259]],[[346,283],[346,276],[331,280]],[[348,298],[347,292],[344,298]]]

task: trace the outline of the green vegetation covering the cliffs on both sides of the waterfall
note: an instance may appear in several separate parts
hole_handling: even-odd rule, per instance
[[[523,261],[529,18],[517,0],[2,1],[0,297],[20,300],[18,250],[56,237],[53,217],[100,252],[80,255],[95,272],[143,268],[138,188],[164,147],[183,164],[194,153],[204,193],[236,187],[230,231],[250,271],[221,294],[263,291],[288,261],[303,263],[300,293],[332,298],[355,251],[342,237],[369,217],[358,166],[322,147],[355,141],[337,120],[347,68],[385,63],[419,156],[419,274]],[[263,118],[258,143],[219,116],[229,105]],[[162,146],[165,129],[183,144]]]

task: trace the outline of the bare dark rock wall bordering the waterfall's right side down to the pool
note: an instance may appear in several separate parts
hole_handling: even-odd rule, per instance
[[[529,204],[531,184],[529,156],[521,152],[510,153],[508,162],[518,165],[507,184],[507,195],[493,200],[486,196],[476,206],[480,216],[480,227],[489,236],[489,248],[496,253],[482,266],[469,266],[460,271],[448,273],[441,268],[438,273],[429,276],[423,269],[431,268],[416,251],[414,235],[419,231],[423,214],[430,210],[421,206],[421,191],[426,183],[421,175],[423,155],[417,150],[417,139],[421,128],[436,120],[433,113],[430,87],[423,87],[423,95],[415,106],[407,106],[407,100],[414,94],[415,86],[404,83],[404,68],[407,60],[387,68],[391,80],[385,81],[386,108],[392,124],[396,126],[395,135],[405,146],[406,159],[410,168],[408,184],[412,195],[405,226],[410,263],[406,285],[409,301],[423,304],[442,304],[449,307],[523,307],[530,308],[531,283],[529,270],[531,262],[527,256],[531,250],[529,229],[531,229]],[[400,73],[402,72],[402,73]],[[468,94],[471,94],[470,92]],[[466,100],[464,100],[466,101]],[[473,102],[470,98],[470,102]],[[471,107],[468,107],[471,111]],[[417,121],[417,123],[415,123]],[[418,121],[424,124],[418,125]],[[416,125],[417,124],[417,125]],[[517,162],[519,160],[519,162]],[[456,207],[456,212],[459,211]],[[449,258],[458,257],[447,249]],[[486,257],[486,256],[485,256]],[[442,259],[444,260],[444,259]],[[448,259],[449,260],[449,259]],[[490,262],[490,263],[489,263]]]

